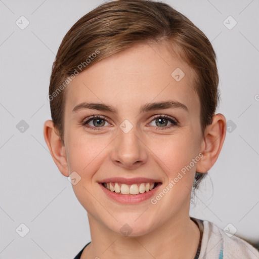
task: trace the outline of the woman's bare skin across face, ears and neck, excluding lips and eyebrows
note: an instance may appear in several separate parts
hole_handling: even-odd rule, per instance
[[[185,73],[180,81],[171,76],[176,68]],[[189,217],[195,170],[206,172],[217,160],[226,136],[226,118],[214,115],[202,136],[193,76],[188,64],[170,54],[165,45],[138,44],[94,64],[66,88],[64,146],[52,120],[45,122],[45,140],[59,170],[66,177],[73,171],[81,177],[72,187],[88,212],[92,237],[81,258],[159,259],[172,254],[194,258],[200,237]],[[181,102],[189,112],[167,108],[139,113],[146,103],[168,100]],[[82,102],[112,105],[118,114],[92,109],[72,112]],[[101,120],[100,130],[82,125],[92,115],[107,118]],[[159,127],[154,115],[168,115],[179,124],[161,130],[172,123],[165,120]],[[125,119],[133,125],[128,133],[119,127]],[[98,127],[93,123],[89,125]],[[199,153],[203,157],[155,205],[150,199],[117,203],[98,184],[107,177],[147,177],[162,182],[161,191]],[[124,224],[131,227],[130,236],[121,234]]]

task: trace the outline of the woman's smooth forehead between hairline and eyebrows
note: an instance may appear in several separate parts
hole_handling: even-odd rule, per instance
[[[101,102],[120,109],[175,100],[189,110],[199,106],[194,71],[165,45],[138,44],[79,73],[66,89],[66,107]]]

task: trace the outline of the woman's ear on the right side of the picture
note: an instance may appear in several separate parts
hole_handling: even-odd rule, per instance
[[[217,161],[226,137],[226,118],[218,113],[213,116],[212,123],[207,125],[201,142],[200,152],[203,157],[196,164],[197,172],[207,172]]]

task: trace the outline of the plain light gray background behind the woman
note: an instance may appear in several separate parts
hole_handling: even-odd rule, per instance
[[[258,241],[259,1],[164,2],[212,42],[220,74],[218,112],[229,127],[191,215],[221,228],[231,223],[236,235]],[[73,258],[91,240],[87,212],[58,171],[42,132],[51,118],[49,78],[61,40],[81,16],[102,3],[0,0],[0,258]],[[23,30],[16,25],[21,16],[29,21]],[[237,22],[232,29],[229,16]],[[23,132],[21,120],[29,126]],[[22,223],[29,229],[25,237],[20,236]]]

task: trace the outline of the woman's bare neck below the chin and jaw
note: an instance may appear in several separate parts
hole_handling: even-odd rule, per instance
[[[91,243],[85,247],[81,258],[171,258],[195,257],[200,232],[189,214],[177,215],[159,228],[142,236],[122,236],[97,222],[90,214]],[[162,249],[161,249],[162,248]]]

